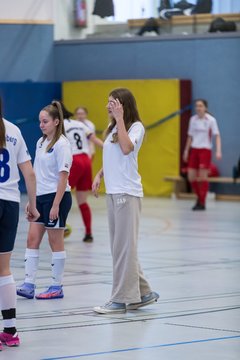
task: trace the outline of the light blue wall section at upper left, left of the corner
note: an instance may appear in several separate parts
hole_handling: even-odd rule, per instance
[[[53,25],[0,24],[0,81],[55,81]]]

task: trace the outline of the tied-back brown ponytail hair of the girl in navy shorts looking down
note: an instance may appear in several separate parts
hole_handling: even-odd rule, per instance
[[[45,106],[42,109],[42,111],[46,111],[48,115],[52,117],[53,120],[56,119],[59,120],[53,139],[50,142],[50,144],[48,144],[47,146],[46,152],[48,152],[60,139],[61,135],[65,136],[64,118],[63,118],[62,106],[59,101],[52,101],[52,103],[50,105]],[[43,135],[42,143],[46,140],[46,138],[47,135]]]

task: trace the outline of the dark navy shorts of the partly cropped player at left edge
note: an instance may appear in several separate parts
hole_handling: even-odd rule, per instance
[[[0,253],[13,251],[19,219],[19,203],[0,200]]]

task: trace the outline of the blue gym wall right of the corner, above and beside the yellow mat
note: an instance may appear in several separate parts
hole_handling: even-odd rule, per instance
[[[57,42],[55,59],[58,81],[191,79],[193,98],[209,101],[210,112],[217,118],[223,135],[220,172],[223,176],[232,175],[232,166],[240,155],[239,33],[185,39]],[[158,104],[159,108],[164,106],[161,96]]]

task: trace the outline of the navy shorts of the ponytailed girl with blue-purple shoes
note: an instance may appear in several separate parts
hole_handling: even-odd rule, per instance
[[[72,206],[72,196],[70,191],[65,192],[60,202],[58,219],[51,221],[49,219],[49,213],[55,195],[56,193],[37,196],[37,209],[40,217],[36,222],[43,224],[47,229],[65,229],[67,216]]]

